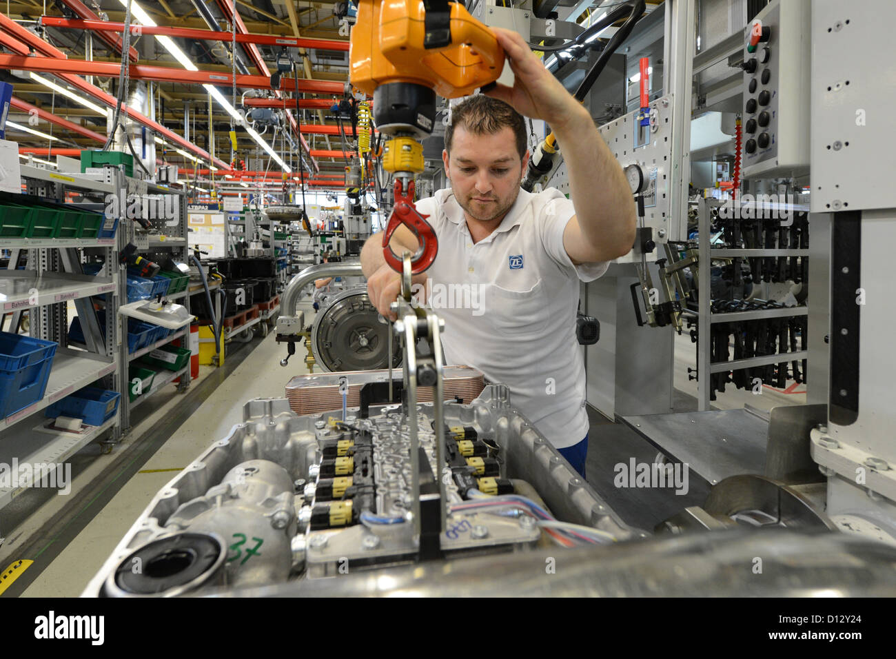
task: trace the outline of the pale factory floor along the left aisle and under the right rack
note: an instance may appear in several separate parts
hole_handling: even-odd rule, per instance
[[[298,348],[297,354],[290,359],[292,363],[286,369],[279,364],[285,354],[285,346],[275,343],[273,334],[269,334],[230,377],[202,403],[191,418],[177,429],[168,442],[151,456],[142,470],[125,484],[82,533],[39,575],[26,590],[25,596],[74,597],[81,594],[90,577],[99,570],[125,531],[134,524],[134,520],[148,505],[152,496],[212,441],[225,437],[234,424],[242,421],[242,407],[246,401],[253,398],[282,397],[289,377],[306,372],[303,361],[304,347]],[[696,395],[696,383],[687,379],[688,366],[694,367],[694,344],[687,336],[677,337],[675,385],[685,393]],[[203,377],[208,377],[210,372],[211,367],[202,367],[200,381]],[[199,382],[194,382],[192,386],[198,384]],[[725,394],[719,395],[719,400],[715,401],[713,406],[719,409],[731,409],[743,407],[747,403],[768,410],[780,404],[805,403],[806,386],[794,388],[796,393],[782,393],[771,387],[765,387],[762,395],[754,395],[729,386]],[[140,433],[150,429],[154,423],[162,419],[177,403],[178,396],[172,386],[169,391],[156,395],[156,400],[144,403],[144,407],[151,407],[151,413],[132,430],[131,435],[125,438],[125,442],[133,441],[133,438],[139,437]],[[76,479],[73,488],[77,489],[79,484],[83,485],[104,468],[108,468],[112,457],[99,456],[90,469]],[[27,538],[31,532],[39,529],[39,526],[65,503],[56,499],[66,498],[54,498],[41,507],[22,528],[17,530],[23,532],[19,534],[20,538]],[[13,541],[9,546],[4,546],[0,563],[5,565],[12,559],[21,558],[15,555],[15,544]]]

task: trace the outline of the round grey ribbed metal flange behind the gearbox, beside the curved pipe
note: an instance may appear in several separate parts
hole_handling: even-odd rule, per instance
[[[365,288],[353,288],[332,297],[314,318],[311,351],[326,371],[372,370],[389,367],[389,327]],[[401,365],[398,333],[392,334],[392,367]]]

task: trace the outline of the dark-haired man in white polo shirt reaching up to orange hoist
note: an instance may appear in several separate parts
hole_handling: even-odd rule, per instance
[[[519,34],[492,30],[515,82],[452,108],[442,154],[451,189],[417,203],[429,215],[439,251],[414,283],[429,278],[430,290],[469,286],[468,308],[436,305],[433,294],[445,319],[445,360],[509,386],[511,402],[584,476],[589,422],[575,338],[579,281],[597,279],[608,261],[632,248],[634,203],[588,111]],[[529,153],[520,115],[544,119],[554,131],[570,199],[553,188],[538,195],[521,190]],[[401,277],[385,264],[382,240],[379,234],[367,239],[361,264],[371,301],[383,316],[394,317],[389,305]],[[418,242],[401,226],[391,245],[400,255],[416,251]]]

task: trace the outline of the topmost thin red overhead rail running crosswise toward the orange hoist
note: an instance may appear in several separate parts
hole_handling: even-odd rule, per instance
[[[65,0],[66,4],[72,0]],[[223,3],[229,10],[230,4]],[[237,13],[237,18],[239,14]],[[228,21],[230,19],[228,18]],[[92,30],[99,32],[118,32],[125,30],[125,23],[111,21],[82,21],[79,19],[57,18],[56,16],[42,16],[40,23],[50,28],[72,28],[73,30]],[[349,42],[340,41],[338,39],[305,39],[300,37],[281,37],[276,34],[252,34],[246,30],[246,25],[242,19],[237,22],[237,43],[238,44],[258,44],[259,46],[283,46],[285,48],[314,48],[316,50],[337,50],[342,52],[349,51]],[[225,41],[230,43],[233,34],[230,32],[219,32],[215,30],[200,30],[197,28],[177,28],[166,25],[136,25],[132,26],[134,34],[163,35],[166,37],[175,37],[179,39],[202,39],[205,41]],[[257,48],[255,48],[257,51]],[[250,56],[251,53],[250,53]],[[253,57],[254,59],[254,57]],[[256,64],[257,66],[257,64]]]

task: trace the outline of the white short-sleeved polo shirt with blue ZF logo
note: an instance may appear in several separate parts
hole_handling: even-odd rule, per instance
[[[416,205],[439,241],[426,275],[429,302],[445,320],[446,362],[509,386],[511,403],[556,448],[581,442],[589,422],[575,337],[579,281],[597,279],[609,264],[576,266],[566,254],[573,203],[556,188],[521,189],[498,228],[475,245],[451,189]]]

